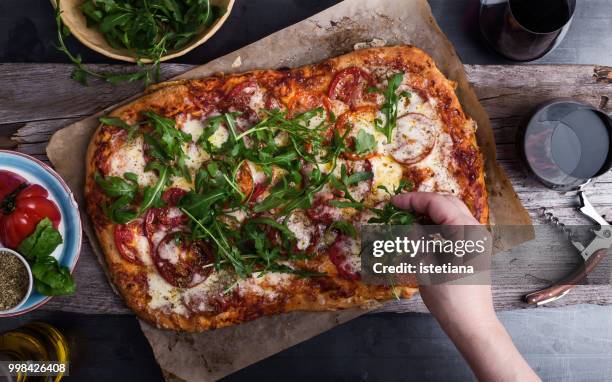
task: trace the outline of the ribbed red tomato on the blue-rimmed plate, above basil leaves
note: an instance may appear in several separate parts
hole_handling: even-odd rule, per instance
[[[16,175],[13,179],[23,178]],[[3,194],[0,200],[0,241],[8,248],[16,249],[44,218],[49,218],[55,228],[59,226],[60,211],[54,202],[47,199],[47,190],[38,184],[22,182],[8,193],[4,192],[3,184],[0,194]]]

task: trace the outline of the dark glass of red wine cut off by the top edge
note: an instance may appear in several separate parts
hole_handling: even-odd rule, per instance
[[[480,31],[505,58],[532,61],[559,45],[575,9],[576,0],[481,0]]]

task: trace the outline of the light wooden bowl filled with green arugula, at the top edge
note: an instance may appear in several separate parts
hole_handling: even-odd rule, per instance
[[[234,0],[51,0],[62,40],[74,35],[107,57],[159,63],[191,51],[225,22]],[[60,20],[61,18],[61,20]],[[71,57],[79,61],[80,57]],[[76,63],[76,62],[75,62]]]

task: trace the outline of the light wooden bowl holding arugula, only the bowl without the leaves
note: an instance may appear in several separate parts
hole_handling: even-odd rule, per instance
[[[102,33],[98,31],[97,28],[87,27],[87,20],[85,15],[79,9],[79,6],[83,3],[83,0],[60,0],[60,7],[62,10],[61,17],[62,22],[68,29],[70,29],[70,33],[74,35],[80,42],[85,44],[87,47],[95,50],[98,53],[101,53],[107,57],[115,58],[117,60],[128,61],[128,62],[136,62],[137,56],[129,51],[128,49],[116,49],[110,46],[109,43],[106,42]],[[165,56],[162,56],[161,61],[170,60],[175,57],[180,57],[185,53],[195,49],[198,45],[203,44],[206,40],[212,37],[221,25],[227,20],[230,12],[232,11],[232,7],[234,6],[234,0],[210,0],[211,5],[217,5],[219,7],[225,8],[226,11],[218,18],[214,24],[208,28],[200,32],[199,35],[194,37],[193,41],[186,45],[183,49],[178,51],[171,51]],[[51,4],[54,7],[57,6],[55,0],[51,0]],[[150,59],[142,58],[142,62],[150,63]]]

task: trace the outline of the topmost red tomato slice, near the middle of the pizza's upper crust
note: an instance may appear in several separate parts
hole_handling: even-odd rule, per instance
[[[367,94],[368,86],[372,84],[372,77],[364,70],[350,67],[336,74],[329,89],[328,96],[332,100],[339,100],[351,108],[367,102],[373,97]]]

